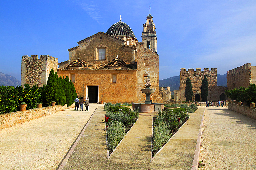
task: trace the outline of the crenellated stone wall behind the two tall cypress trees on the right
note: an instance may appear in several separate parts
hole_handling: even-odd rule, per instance
[[[202,71],[201,69],[180,69],[180,90],[185,90],[186,88],[186,81],[187,78],[191,80],[192,83],[192,90],[194,91],[201,91],[202,81],[204,79],[204,75],[207,77],[208,81],[208,89],[213,90],[217,88],[217,69],[212,68],[209,70],[208,68],[204,68]]]

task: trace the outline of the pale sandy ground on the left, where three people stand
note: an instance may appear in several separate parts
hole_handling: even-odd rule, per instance
[[[56,169],[97,106],[74,108],[0,130],[0,169]]]

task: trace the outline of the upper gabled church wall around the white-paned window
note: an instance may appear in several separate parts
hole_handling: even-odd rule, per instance
[[[69,49],[69,63],[77,60],[78,57],[92,64],[108,63],[117,55],[127,63],[135,59],[136,47],[125,46],[125,41],[102,32],[78,43],[78,47]],[[97,47],[105,48],[105,60],[96,60]]]

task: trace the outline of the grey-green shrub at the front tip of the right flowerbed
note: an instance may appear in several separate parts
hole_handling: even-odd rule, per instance
[[[157,152],[161,149],[170,139],[169,129],[163,121],[160,121],[153,130],[153,152]]]

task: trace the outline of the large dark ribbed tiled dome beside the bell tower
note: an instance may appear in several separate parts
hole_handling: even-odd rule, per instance
[[[106,33],[112,36],[126,36],[126,37],[135,38],[135,35],[132,29],[129,27],[129,25],[127,25],[122,21],[119,21],[111,25],[111,27],[108,29]]]

